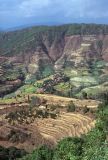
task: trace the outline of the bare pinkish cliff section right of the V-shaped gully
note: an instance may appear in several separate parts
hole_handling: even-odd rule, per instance
[[[102,59],[98,46],[99,39],[94,36],[70,36],[65,38],[62,56],[55,62],[55,68],[88,66],[89,61]]]

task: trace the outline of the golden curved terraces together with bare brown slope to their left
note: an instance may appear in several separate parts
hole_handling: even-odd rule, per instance
[[[3,117],[1,116],[1,122]],[[5,120],[0,126],[0,145],[15,146],[31,152],[40,144],[53,146],[64,137],[80,137],[87,134],[95,127],[95,122],[88,116],[66,112],[61,113],[56,119],[36,118],[31,124],[9,125]]]

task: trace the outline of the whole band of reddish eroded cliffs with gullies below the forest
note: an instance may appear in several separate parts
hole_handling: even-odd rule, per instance
[[[91,59],[108,61],[108,35],[64,36],[59,40],[54,39],[51,45],[45,39],[35,51],[19,53],[8,60],[12,63],[24,63],[28,67],[30,64],[38,67],[49,64],[59,68],[66,63],[74,66],[87,65]]]

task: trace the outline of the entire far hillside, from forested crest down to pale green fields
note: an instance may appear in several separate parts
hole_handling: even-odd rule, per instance
[[[73,24],[1,33],[0,96],[60,72],[68,80],[54,84],[55,94],[100,98],[108,90],[107,32],[107,25]]]

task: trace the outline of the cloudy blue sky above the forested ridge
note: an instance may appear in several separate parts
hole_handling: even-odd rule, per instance
[[[108,0],[0,0],[0,28],[64,23],[108,24]]]

